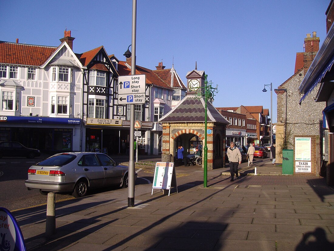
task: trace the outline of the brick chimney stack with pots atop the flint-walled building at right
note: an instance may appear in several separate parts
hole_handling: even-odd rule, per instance
[[[317,37],[317,32],[313,31],[311,34],[306,34],[304,38],[305,52],[304,52],[304,73],[310,68],[310,65],[319,51],[320,38]]]

